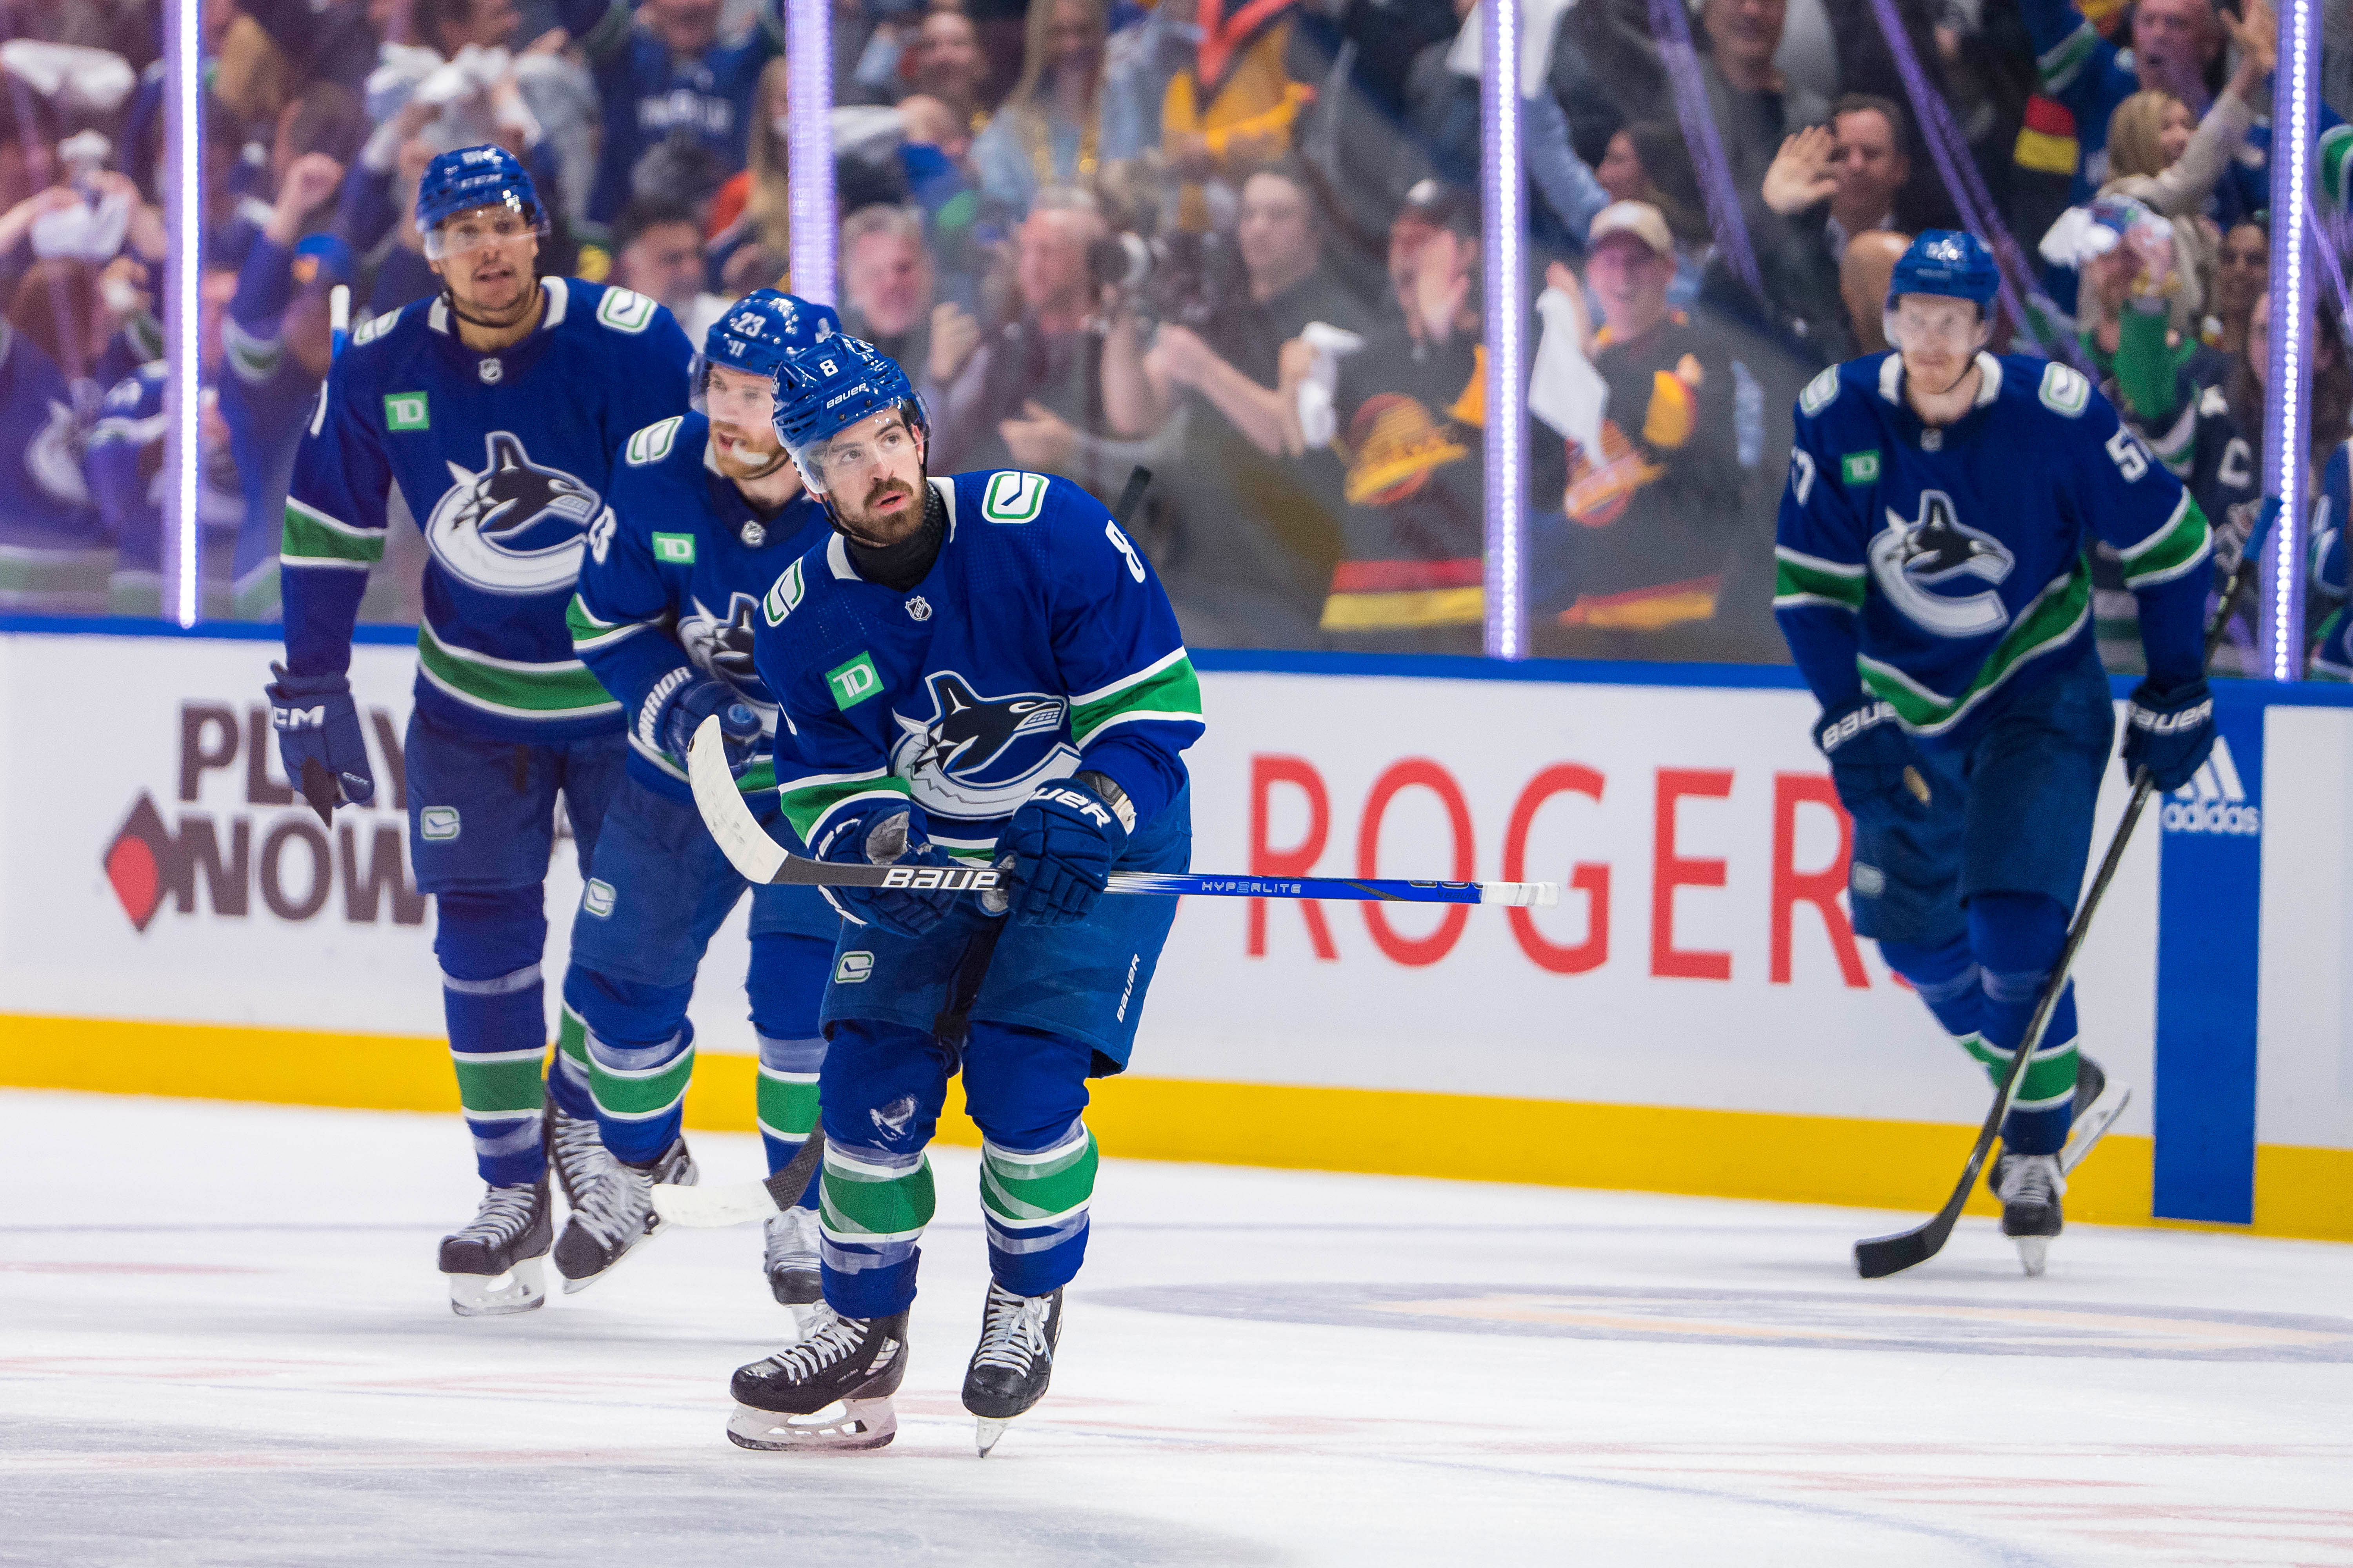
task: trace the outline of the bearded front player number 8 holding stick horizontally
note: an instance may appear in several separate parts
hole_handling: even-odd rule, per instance
[[[981,1126],[988,1298],[965,1408],[988,1453],[1045,1394],[1087,1246],[1087,1079],[1120,1072],[1174,907],[1104,898],[1184,870],[1200,682],[1160,581],[1087,491],[925,475],[929,428],[856,339],[793,355],[776,428],[835,534],[784,569],[753,658],[784,708],[779,806],[819,860],[1012,867],[1000,912],[831,889],[852,926],[826,992],[824,1307],[734,1375],[746,1448],[880,1448],[896,1418],[948,1077]],[[842,1401],[838,1418],[819,1415]]]

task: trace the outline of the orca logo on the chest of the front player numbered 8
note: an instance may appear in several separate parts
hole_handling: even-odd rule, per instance
[[[922,679],[932,715],[899,719],[889,771],[913,785],[925,811],[944,816],[1005,816],[1047,778],[1078,766],[1078,750],[1061,738],[1068,703],[1042,691],[981,696],[955,670]]]

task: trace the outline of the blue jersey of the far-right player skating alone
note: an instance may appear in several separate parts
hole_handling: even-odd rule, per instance
[[[2028,668],[2092,637],[2087,545],[2115,545],[2158,686],[2202,668],[2205,512],[2066,364],[1979,355],[1977,404],[1932,428],[1904,360],[1831,367],[1798,397],[1774,616],[1824,708],[1864,689],[1955,736]]]

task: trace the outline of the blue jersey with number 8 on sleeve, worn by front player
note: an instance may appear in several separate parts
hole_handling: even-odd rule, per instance
[[[1068,480],[998,470],[932,489],[948,538],[913,590],[861,578],[831,534],[760,602],[784,818],[807,844],[845,806],[913,797],[934,844],[988,856],[1040,783],[1087,766],[1151,820],[1202,729],[1160,578]]]

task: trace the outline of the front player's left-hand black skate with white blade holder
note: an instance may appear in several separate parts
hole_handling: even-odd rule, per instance
[[[791,1349],[739,1366],[727,1441],[736,1448],[824,1453],[887,1448],[899,1432],[889,1396],[906,1378],[906,1314],[842,1316],[816,1302]],[[819,1410],[840,1403],[840,1415]],[[795,1415],[816,1420],[793,1420]]]

